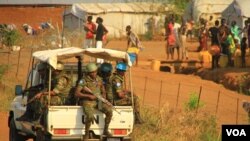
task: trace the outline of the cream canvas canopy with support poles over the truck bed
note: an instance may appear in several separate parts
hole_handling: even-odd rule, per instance
[[[69,59],[72,57],[83,56],[83,55],[88,55],[94,58],[102,58],[108,61],[124,61],[129,66],[129,87],[132,95],[132,107],[134,107],[133,88],[132,88],[133,85],[131,77],[132,62],[127,52],[105,49],[105,48],[81,49],[78,47],[68,47],[68,48],[59,48],[53,50],[37,51],[32,54],[34,59],[37,59],[41,62],[46,62],[51,66],[49,69],[49,82],[51,81],[51,74],[52,74],[51,68],[54,69],[56,68],[58,60]],[[51,85],[49,85],[49,89],[51,89]],[[50,105],[50,91],[49,91],[48,103]]]

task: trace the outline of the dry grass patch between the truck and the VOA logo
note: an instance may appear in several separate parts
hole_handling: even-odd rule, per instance
[[[135,125],[136,141],[220,141],[216,118],[195,111],[174,111],[166,103],[160,110],[144,107],[142,125]]]

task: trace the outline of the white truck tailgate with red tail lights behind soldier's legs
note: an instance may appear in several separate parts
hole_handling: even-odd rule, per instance
[[[133,129],[134,114],[131,106],[115,106],[109,130],[114,136],[128,136]],[[52,136],[82,136],[85,133],[85,115],[81,106],[51,106],[48,110],[47,131]],[[91,130],[102,135],[105,115],[96,110]]]

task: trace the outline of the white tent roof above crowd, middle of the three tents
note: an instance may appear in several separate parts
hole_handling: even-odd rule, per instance
[[[186,19],[192,18],[198,21],[200,17],[207,19],[213,16],[221,17],[221,13],[233,2],[233,0],[192,0],[186,8]]]

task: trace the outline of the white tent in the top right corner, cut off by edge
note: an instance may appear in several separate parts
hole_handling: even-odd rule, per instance
[[[233,20],[241,28],[244,27],[244,21],[250,18],[250,0],[234,0],[224,11],[223,17],[230,24]]]

